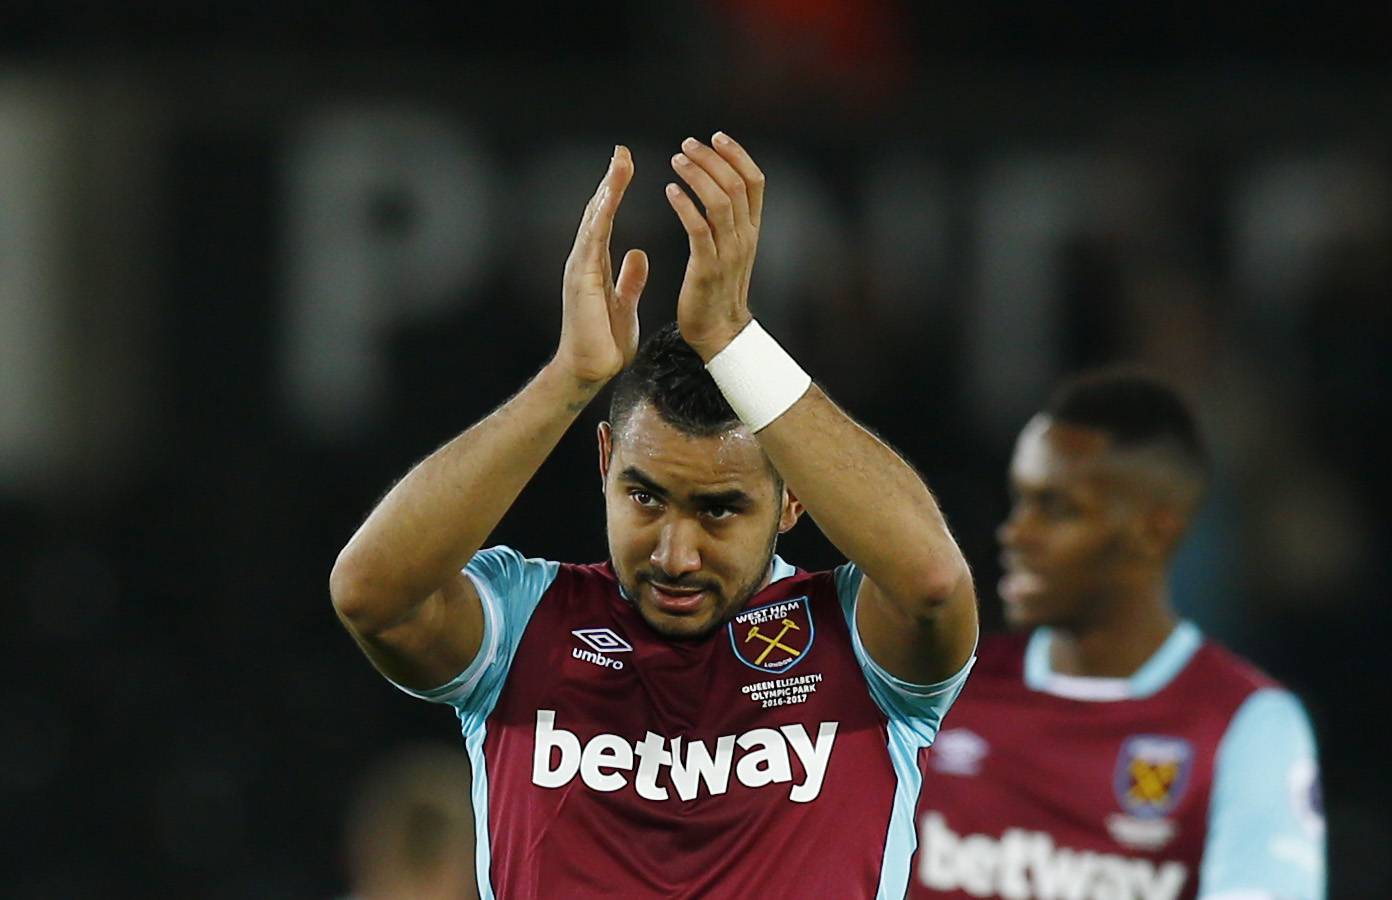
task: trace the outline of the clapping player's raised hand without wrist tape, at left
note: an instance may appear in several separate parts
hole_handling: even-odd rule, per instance
[[[608,246],[614,216],[632,179],[628,147],[614,147],[565,260],[555,362],[586,384],[608,381],[638,352],[638,298],[647,282],[647,255],[625,253],[615,281]]]

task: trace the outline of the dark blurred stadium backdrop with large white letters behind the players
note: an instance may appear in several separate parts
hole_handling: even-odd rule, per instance
[[[1018,6],[0,10],[0,893],[345,889],[354,779],[457,729],[341,633],[334,554],[544,360],[615,140],[671,317],[665,160],[722,128],[768,174],[756,310],[927,474],[988,623],[1050,383],[1199,401],[1176,602],[1306,698],[1332,896],[1389,896],[1392,15]],[[603,556],[599,412],[500,541]]]

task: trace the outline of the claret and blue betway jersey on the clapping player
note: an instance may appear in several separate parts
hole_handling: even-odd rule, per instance
[[[899,682],[852,626],[853,565],[773,565],[729,623],[671,641],[607,563],[469,562],[479,654],[408,693],[458,711],[484,897],[905,896],[919,751],[972,664]]]

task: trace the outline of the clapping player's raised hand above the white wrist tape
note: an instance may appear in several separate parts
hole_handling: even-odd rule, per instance
[[[724,132],[715,132],[709,146],[695,138],[683,140],[672,168],[706,207],[703,216],[685,191],[667,185],[667,200],[690,243],[677,324],[682,339],[709,360],[750,320],[749,277],[759,246],[764,174]]]

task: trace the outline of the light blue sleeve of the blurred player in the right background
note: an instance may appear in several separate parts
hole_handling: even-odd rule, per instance
[[[1320,764],[1293,694],[1265,689],[1237,708],[1218,744],[1210,804],[1200,897],[1324,897]]]

